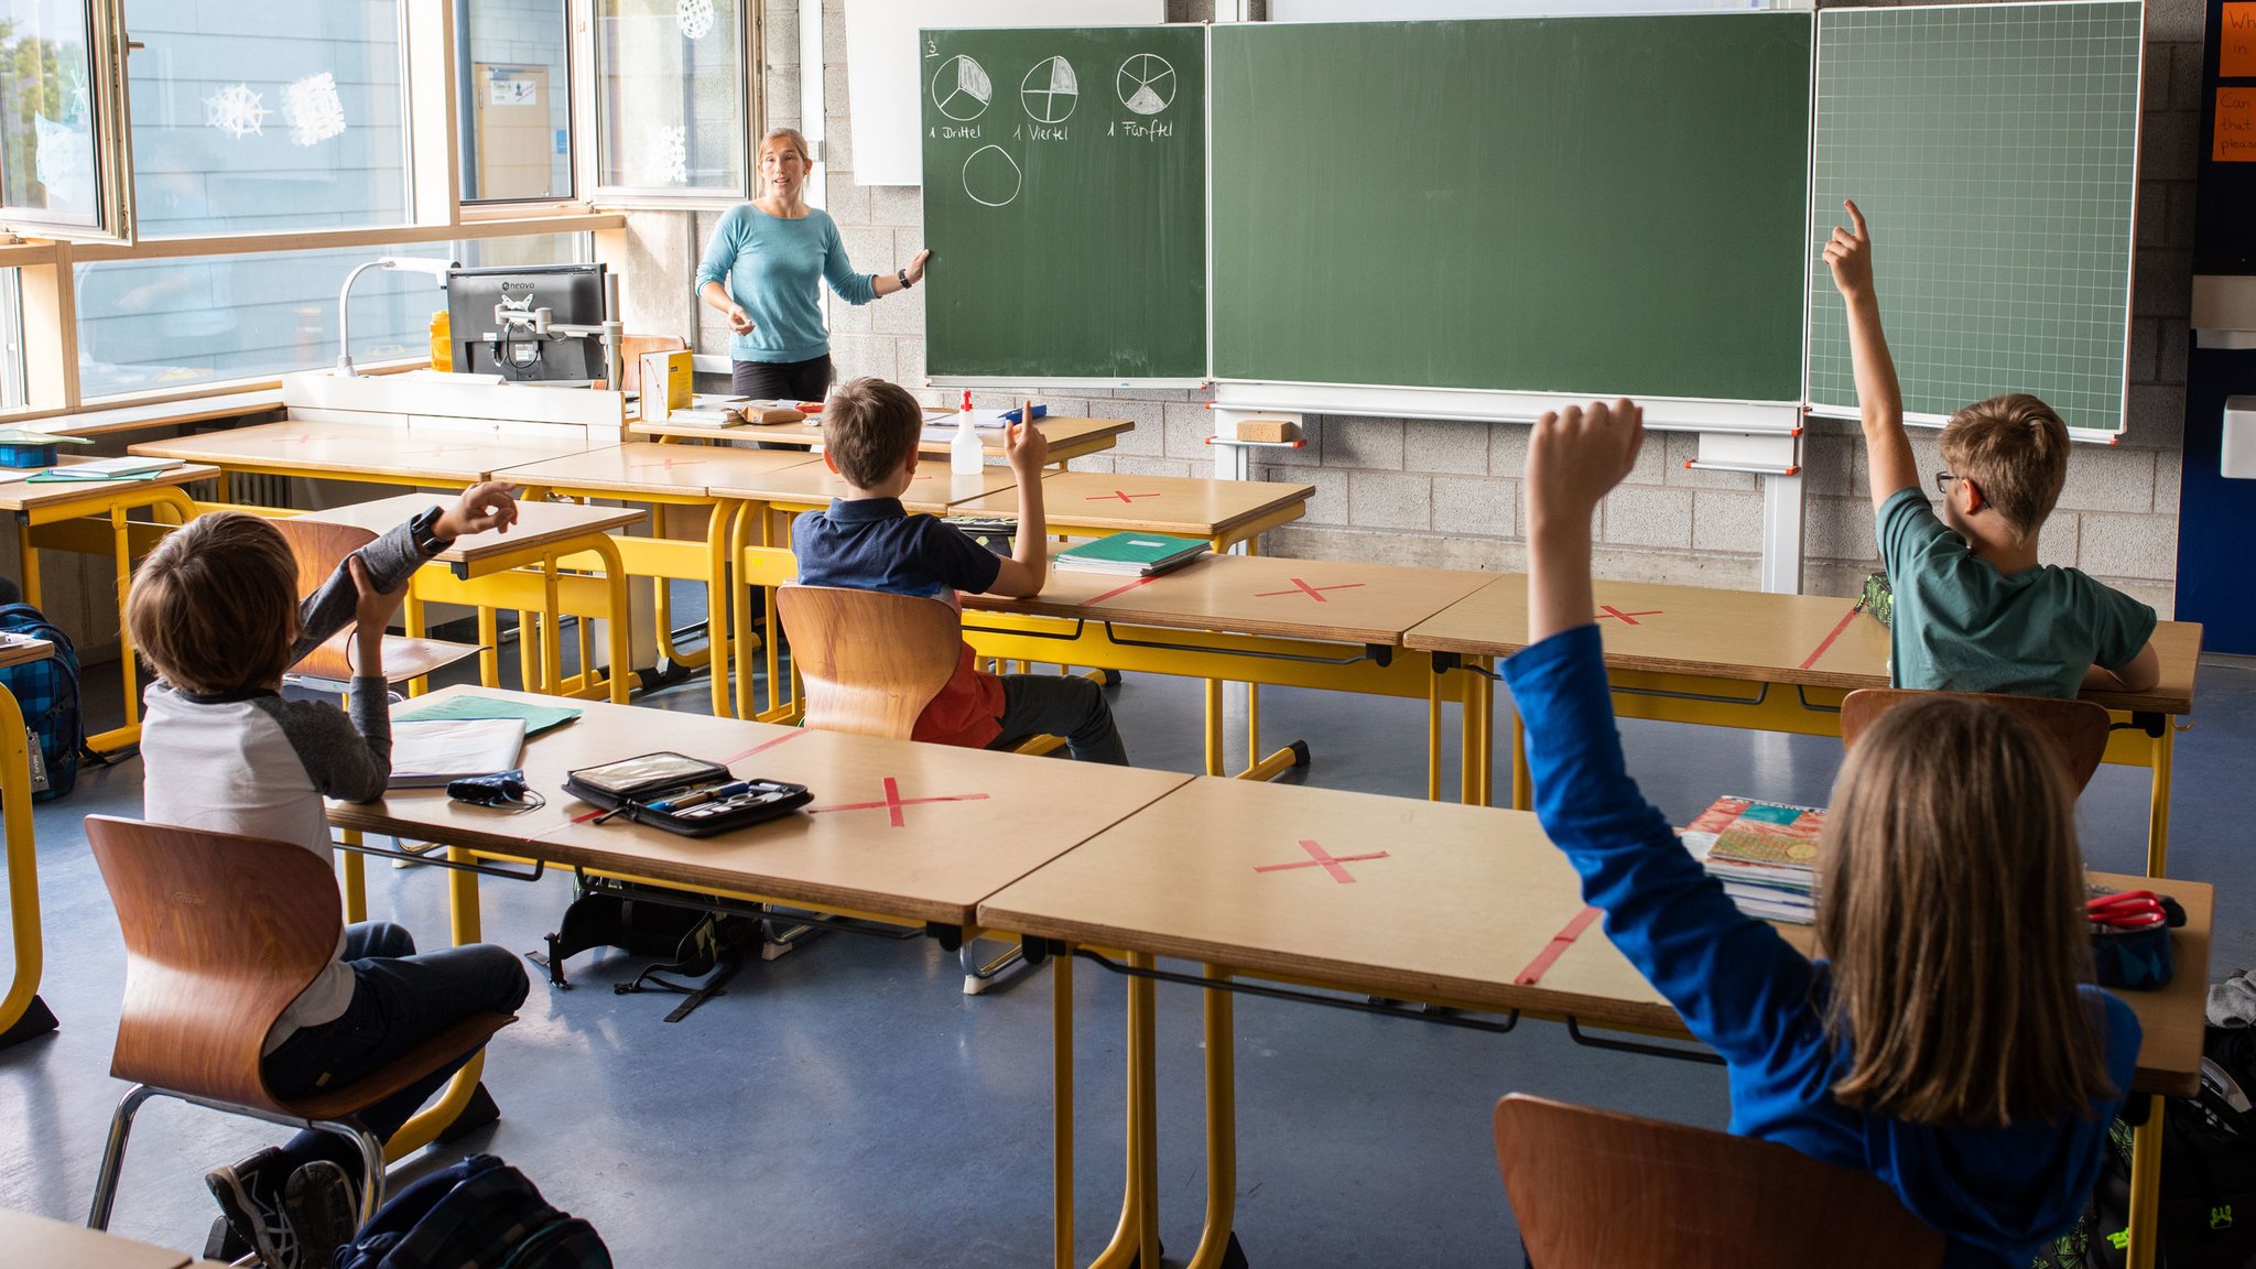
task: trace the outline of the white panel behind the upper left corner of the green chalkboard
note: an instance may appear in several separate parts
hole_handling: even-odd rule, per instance
[[[923,174],[918,27],[1137,27],[1166,0],[846,0],[846,97],[857,185],[916,185]],[[826,52],[826,61],[839,56]]]

